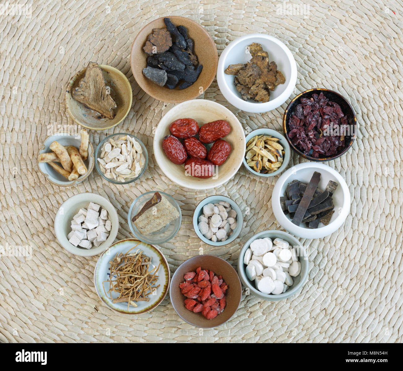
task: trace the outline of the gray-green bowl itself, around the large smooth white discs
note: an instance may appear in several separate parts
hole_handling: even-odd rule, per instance
[[[251,244],[252,241],[255,241],[258,238],[264,238],[264,237],[269,237],[271,239],[275,238],[281,238],[290,243],[292,246],[299,246],[303,250],[303,256],[305,256],[305,264],[301,264],[301,272],[299,273],[298,276],[301,277],[299,282],[292,287],[291,289],[288,289],[285,293],[278,294],[278,295],[272,295],[272,294],[264,294],[258,289],[255,288],[255,285],[249,281],[249,278],[247,278],[246,273],[245,273],[245,264],[243,264],[243,257],[245,256],[245,251],[248,249],[249,245]],[[295,295],[298,291],[301,290],[305,282],[307,281],[308,278],[308,272],[309,272],[309,261],[308,261],[308,256],[307,252],[305,250],[305,247],[301,245],[301,243],[293,236],[291,236],[287,232],[283,231],[276,231],[276,230],[269,230],[269,231],[262,231],[251,238],[249,238],[245,245],[243,245],[241,252],[239,253],[239,258],[238,258],[238,273],[239,277],[241,278],[241,281],[243,285],[251,291],[251,293],[255,294],[256,296],[268,300],[268,301],[279,301],[283,299],[288,299],[289,297]]]

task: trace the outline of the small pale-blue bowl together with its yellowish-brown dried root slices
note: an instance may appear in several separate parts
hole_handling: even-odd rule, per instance
[[[252,175],[274,177],[287,167],[290,155],[290,146],[283,135],[260,128],[246,136],[243,165]]]

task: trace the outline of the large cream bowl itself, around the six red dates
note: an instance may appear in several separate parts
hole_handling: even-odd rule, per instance
[[[187,117],[196,120],[199,126],[215,120],[226,120],[231,126],[231,132],[222,139],[231,144],[232,151],[226,161],[216,167],[216,175],[211,178],[200,179],[185,175],[185,166],[172,163],[162,149],[162,140],[169,134],[169,125],[177,119]],[[175,105],[162,117],[154,134],[153,146],[157,163],[169,179],[185,188],[207,190],[229,181],[238,171],[245,157],[245,134],[241,123],[229,109],[213,101],[193,99]]]

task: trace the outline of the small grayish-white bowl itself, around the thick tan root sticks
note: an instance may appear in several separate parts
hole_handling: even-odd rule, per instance
[[[39,149],[38,157],[42,153],[52,152],[52,150],[50,149],[50,144],[52,144],[52,142],[54,141],[59,142],[62,146],[75,146],[76,148],[79,148],[81,143],[81,136],[80,134],[70,135],[65,132],[52,134],[44,140],[41,148]],[[59,174],[55,169],[53,169],[48,163],[39,162],[38,159],[37,161],[39,171],[43,175],[45,175],[46,179],[48,179],[50,183],[59,187],[70,187],[73,186],[74,184],[81,183],[84,179],[87,179],[89,174],[91,174],[95,163],[94,148],[92,146],[92,143],[88,142],[88,158],[84,160],[84,164],[87,167],[87,172],[83,175],[80,175],[75,180],[66,179],[63,175]],[[60,163],[56,164],[60,166]]]

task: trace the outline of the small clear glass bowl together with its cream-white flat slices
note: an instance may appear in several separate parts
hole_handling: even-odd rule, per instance
[[[107,136],[95,151],[95,168],[104,179],[114,184],[128,184],[139,179],[147,164],[147,149],[131,134]]]

